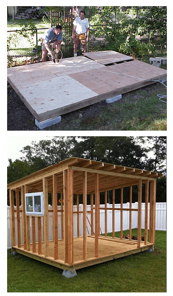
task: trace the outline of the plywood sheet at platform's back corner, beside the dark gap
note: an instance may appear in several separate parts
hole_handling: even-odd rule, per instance
[[[112,63],[119,63],[123,61],[131,61],[132,57],[120,54],[114,51],[100,51],[100,52],[91,52],[83,53],[83,55],[89,59],[92,59],[102,65],[109,65]]]

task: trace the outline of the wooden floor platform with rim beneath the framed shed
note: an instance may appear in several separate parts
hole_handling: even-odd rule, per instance
[[[94,254],[95,250],[95,239],[94,236],[87,236],[86,245],[87,245],[87,257],[86,261],[83,261],[83,238],[75,237],[73,242],[74,250],[74,263],[69,265],[64,263],[64,240],[59,240],[59,259],[54,260],[54,242],[49,241],[49,256],[45,258],[44,256],[44,243],[42,243],[42,254],[38,255],[38,244],[36,243],[36,253],[32,252],[32,244],[30,251],[26,251],[23,247],[18,248],[17,246],[13,247],[18,253],[31,257],[33,259],[42,261],[44,263],[62,268],[62,269],[80,269],[83,267],[95,265],[98,263],[106,262],[109,260],[121,258],[131,254],[139,253],[146,251],[152,247],[153,244],[148,243],[147,245],[144,242],[141,242],[140,248],[137,248],[137,241],[127,241],[127,239],[120,240],[118,238],[105,238],[103,236],[99,237],[99,256],[96,258]]]

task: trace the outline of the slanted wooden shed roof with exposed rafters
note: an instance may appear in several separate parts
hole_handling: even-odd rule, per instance
[[[97,173],[99,173],[100,192],[111,190],[113,188],[136,185],[138,184],[139,179],[142,180],[142,183],[145,183],[147,180],[152,181],[156,178],[163,177],[163,174],[160,174],[159,172],[70,157],[8,184],[8,189],[20,188],[23,185],[27,185],[28,190],[31,192],[42,191],[42,179],[47,178],[48,192],[52,192],[52,175],[57,175],[57,192],[63,192],[63,170],[69,167],[73,169],[74,193],[82,193],[83,171],[87,172],[88,193],[95,191],[95,174]]]

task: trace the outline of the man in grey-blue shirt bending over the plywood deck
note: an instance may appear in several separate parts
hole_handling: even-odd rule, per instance
[[[42,62],[46,62],[47,53],[51,56],[50,44],[55,48],[56,62],[59,62],[58,54],[63,41],[62,27],[58,24],[55,28],[50,28],[46,31],[42,42]]]

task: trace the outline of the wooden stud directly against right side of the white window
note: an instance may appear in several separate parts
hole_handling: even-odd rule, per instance
[[[48,189],[47,179],[43,178],[43,193],[44,193],[44,256],[49,256],[49,217],[48,217]]]

